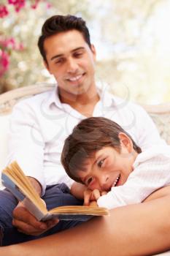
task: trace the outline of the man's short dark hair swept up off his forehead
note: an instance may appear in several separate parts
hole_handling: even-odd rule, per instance
[[[82,20],[82,18],[77,18],[73,15],[54,15],[45,21],[44,25],[42,26],[42,35],[38,40],[38,47],[42,58],[46,61],[46,63],[47,59],[44,48],[45,39],[53,36],[54,34],[73,29],[80,31],[85,39],[85,42],[87,42],[89,47],[91,47],[90,34],[85,24],[85,20]]]

